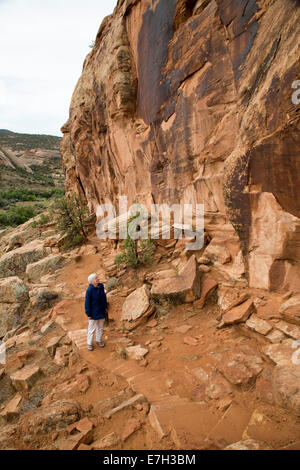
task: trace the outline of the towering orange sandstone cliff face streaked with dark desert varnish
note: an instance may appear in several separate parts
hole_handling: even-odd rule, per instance
[[[63,127],[67,191],[204,203],[231,278],[300,291],[300,3],[119,0]]]

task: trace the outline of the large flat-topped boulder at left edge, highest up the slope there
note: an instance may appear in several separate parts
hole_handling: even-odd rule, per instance
[[[0,258],[0,277],[23,277],[30,263],[45,258],[49,250],[39,240],[6,253]]]

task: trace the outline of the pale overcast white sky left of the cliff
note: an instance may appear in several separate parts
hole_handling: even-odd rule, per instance
[[[0,129],[61,135],[89,45],[117,0],[0,0]]]

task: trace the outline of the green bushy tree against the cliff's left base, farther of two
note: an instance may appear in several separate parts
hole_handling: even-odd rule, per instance
[[[80,196],[72,194],[56,199],[50,210],[58,232],[64,236],[64,251],[87,240],[83,221],[88,209]]]

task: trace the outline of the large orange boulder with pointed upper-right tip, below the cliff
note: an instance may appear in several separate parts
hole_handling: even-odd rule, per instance
[[[197,260],[193,255],[178,276],[154,282],[151,294],[158,300],[173,298],[182,302],[194,302],[201,294],[200,279]]]

